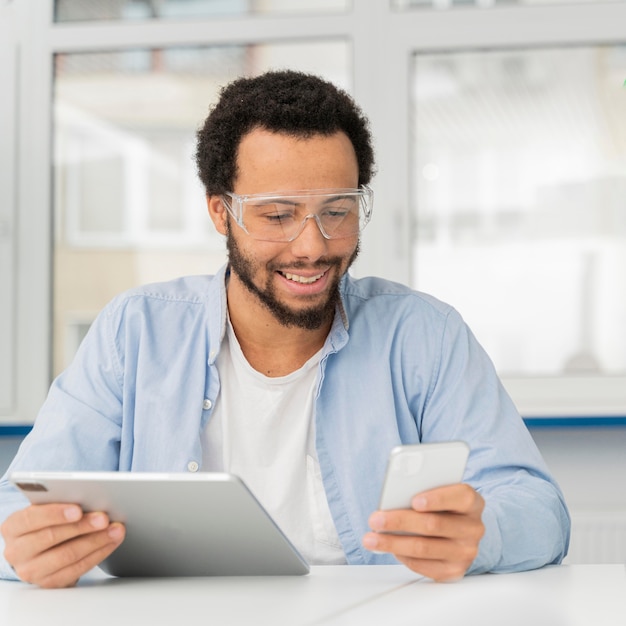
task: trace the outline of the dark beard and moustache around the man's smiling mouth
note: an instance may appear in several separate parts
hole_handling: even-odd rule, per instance
[[[230,223],[227,223],[226,230],[226,248],[228,250],[228,259],[230,269],[237,274],[237,277],[246,289],[257,298],[257,300],[274,316],[274,318],[283,326],[302,328],[304,330],[318,330],[324,324],[327,324],[333,319],[335,315],[335,308],[339,302],[339,282],[343,274],[348,271],[348,268],[354,263],[359,254],[359,243],[354,249],[348,259],[347,265],[343,271],[341,271],[342,265],[345,263],[344,257],[328,257],[318,261],[314,265],[306,263],[293,263],[289,266],[289,270],[297,269],[321,269],[336,268],[336,278],[330,285],[328,291],[328,297],[320,304],[314,306],[294,309],[283,304],[276,295],[276,291],[271,282],[272,274],[278,270],[277,267],[272,267],[272,264],[267,265],[267,271],[269,277],[264,288],[259,287],[254,282],[255,262],[249,256],[247,256],[239,247],[239,244],[232,236]]]

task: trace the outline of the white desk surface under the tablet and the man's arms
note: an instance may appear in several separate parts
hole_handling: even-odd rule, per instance
[[[304,577],[115,579],[72,589],[0,581],[2,626],[624,626],[626,568],[570,565],[439,584],[403,566]]]

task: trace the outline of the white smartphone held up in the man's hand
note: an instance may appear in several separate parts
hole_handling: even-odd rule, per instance
[[[389,454],[378,508],[410,509],[416,494],[461,482],[468,456],[464,441],[396,446]]]

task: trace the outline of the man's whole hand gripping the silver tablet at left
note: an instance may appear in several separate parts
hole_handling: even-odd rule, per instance
[[[45,588],[71,587],[124,540],[123,524],[74,504],[36,504],[0,527],[4,556],[24,581]]]

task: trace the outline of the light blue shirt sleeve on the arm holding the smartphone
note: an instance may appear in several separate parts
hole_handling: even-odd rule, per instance
[[[485,500],[485,535],[469,572],[561,562],[570,534],[563,494],[493,364],[454,310],[422,418],[423,441],[450,439],[469,444],[464,481]]]

